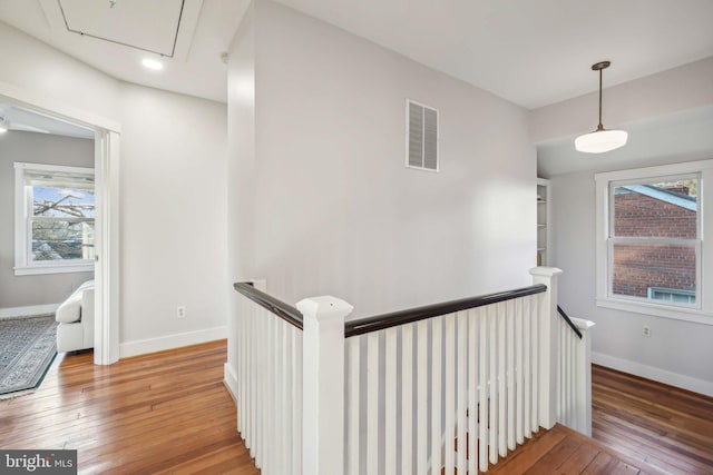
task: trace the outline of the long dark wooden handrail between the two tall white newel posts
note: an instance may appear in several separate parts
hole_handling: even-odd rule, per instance
[[[399,325],[411,324],[413,321],[424,320],[427,318],[438,317],[440,315],[452,314],[453,311],[465,310],[467,308],[482,307],[485,305],[511,300],[518,297],[541,294],[546,290],[546,285],[536,284],[515,290],[481,295],[479,297],[461,298],[459,300],[450,300],[442,304],[432,304],[423,307],[392,311],[390,314],[378,315],[374,317],[361,318],[359,320],[351,320],[344,323],[344,338],[356,335],[364,335],[371,331],[378,331]]]

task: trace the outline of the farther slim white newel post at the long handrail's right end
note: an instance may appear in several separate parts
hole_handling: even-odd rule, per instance
[[[557,337],[557,277],[561,269],[535,267],[530,269],[533,284],[545,284],[547,291],[539,308],[539,425],[550,429],[557,423],[557,364],[559,338]]]

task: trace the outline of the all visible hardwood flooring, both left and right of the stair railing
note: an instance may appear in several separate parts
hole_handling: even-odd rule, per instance
[[[76,448],[79,473],[260,472],[223,386],[225,340],[95,366],[60,355],[35,393],[0,400],[1,448]],[[491,473],[713,474],[713,398],[593,367],[594,438],[556,426]]]

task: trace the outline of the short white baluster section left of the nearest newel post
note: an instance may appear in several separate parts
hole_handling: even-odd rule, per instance
[[[264,283],[254,286],[264,289]],[[301,315],[287,308],[292,320],[290,315],[277,317],[274,310],[284,304],[263,297],[260,304],[240,299],[232,335],[237,344],[237,429],[263,474],[300,474],[303,334],[295,323]]]

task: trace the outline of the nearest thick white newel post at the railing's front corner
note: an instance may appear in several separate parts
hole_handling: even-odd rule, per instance
[[[302,473],[344,472],[344,319],[353,307],[339,298],[305,298],[302,335]]]

